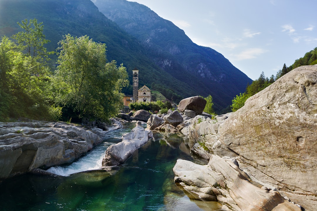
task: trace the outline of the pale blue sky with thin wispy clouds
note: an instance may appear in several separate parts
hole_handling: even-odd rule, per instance
[[[317,47],[315,0],[129,0],[173,22],[256,80]]]

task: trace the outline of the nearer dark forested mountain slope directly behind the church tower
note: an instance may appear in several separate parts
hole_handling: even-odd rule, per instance
[[[89,0],[0,0],[1,37],[10,37],[20,31],[16,22],[33,18],[43,22],[46,39],[51,41],[46,46],[48,50],[55,50],[65,34],[88,35],[94,41],[106,43],[108,61],[116,60],[118,65],[123,63],[127,71],[131,71],[131,84],[132,70],[137,67],[142,73],[140,84],[150,86],[154,81],[159,82],[162,89],[170,90],[179,98],[199,95],[199,90],[191,89],[168,73],[161,74],[160,68],[147,57],[147,50],[139,41],[106,18]],[[55,59],[52,60],[54,64]],[[125,91],[132,93],[132,89]]]

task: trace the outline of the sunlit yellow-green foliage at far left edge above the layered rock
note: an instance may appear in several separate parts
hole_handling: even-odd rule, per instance
[[[36,19],[32,21],[36,23]],[[21,24],[19,24],[21,26]],[[4,104],[7,108],[2,112],[3,118],[27,117],[32,119],[49,120],[51,106],[48,102],[49,93],[49,67],[44,62],[47,57],[45,52],[33,55],[23,51],[30,37],[35,36],[33,27],[22,27],[26,32],[19,32],[12,36],[18,45],[7,37],[3,37],[0,44],[0,87]],[[23,34],[24,33],[24,34]],[[42,31],[37,31],[36,36],[42,36]],[[23,34],[23,36],[20,36]],[[37,45],[44,45],[37,40]],[[43,47],[44,48],[44,47]],[[46,52],[47,53],[47,52]]]

